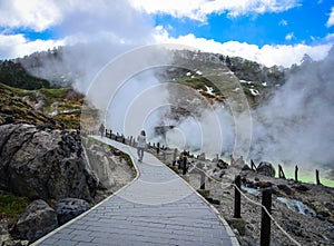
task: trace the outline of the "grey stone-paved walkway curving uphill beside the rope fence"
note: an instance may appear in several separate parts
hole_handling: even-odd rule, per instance
[[[138,163],[135,148],[102,140],[131,156],[136,179],[33,245],[238,245],[217,211],[156,157],[145,152]]]

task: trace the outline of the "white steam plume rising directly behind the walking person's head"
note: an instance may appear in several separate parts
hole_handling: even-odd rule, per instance
[[[163,116],[169,110],[166,86],[153,70],[144,70],[122,82],[110,98],[107,127],[126,136],[137,136],[145,129],[148,140],[155,138],[154,128],[164,125]]]

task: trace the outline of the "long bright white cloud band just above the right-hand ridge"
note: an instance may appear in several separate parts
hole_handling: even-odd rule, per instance
[[[170,38],[166,33],[160,36],[159,41],[180,43],[200,49],[207,52],[223,53],[230,57],[242,57],[254,60],[267,67],[274,65],[291,67],[293,63],[299,63],[303,56],[307,53],[314,60],[325,58],[332,45],[306,46],[303,43],[294,46],[263,46],[249,45],[246,42],[228,41],[217,42],[204,38],[196,38],[194,35]]]

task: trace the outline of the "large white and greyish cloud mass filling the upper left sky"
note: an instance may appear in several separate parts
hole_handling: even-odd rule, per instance
[[[91,52],[108,53],[151,42],[150,17],[127,1],[0,0],[0,59],[22,57],[58,45],[90,43]],[[55,29],[53,29],[55,28]],[[58,40],[28,40],[20,29],[57,30]],[[42,33],[41,33],[42,35]],[[94,45],[92,45],[94,43]],[[97,48],[97,50],[92,50]],[[87,47],[88,49],[88,47]],[[100,53],[101,55],[101,53]]]

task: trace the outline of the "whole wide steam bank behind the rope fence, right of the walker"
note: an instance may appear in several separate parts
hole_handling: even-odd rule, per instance
[[[249,155],[244,157],[248,161],[282,164],[288,169],[298,165],[301,171],[306,173],[317,168],[334,179],[334,48],[322,61],[305,58],[299,67],[291,69],[286,82],[268,101],[252,110],[252,145]],[[197,110],[200,116],[175,122],[177,128],[168,131],[167,137],[176,139],[176,145],[185,144],[183,139],[186,139],[189,150],[200,147],[212,156],[219,150],[220,154],[233,154],[235,122],[243,124],[244,115],[233,116],[218,105],[214,108]],[[218,128],[213,127],[213,115],[218,116]],[[204,129],[210,140],[200,145],[200,138],[196,136]],[[222,136],[218,138],[222,139],[216,138],[219,130]],[[176,138],[179,132],[183,135],[180,140]]]

